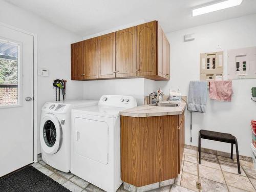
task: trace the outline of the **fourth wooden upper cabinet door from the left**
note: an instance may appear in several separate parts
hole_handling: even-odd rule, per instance
[[[116,77],[136,76],[136,27],[116,32]]]

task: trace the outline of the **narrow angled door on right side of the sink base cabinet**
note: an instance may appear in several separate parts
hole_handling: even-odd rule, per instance
[[[184,146],[185,146],[185,116],[183,116],[181,124],[178,128],[178,145],[179,145],[179,167],[178,170],[180,172],[180,166],[181,166],[181,161],[183,157],[183,151],[184,151]]]

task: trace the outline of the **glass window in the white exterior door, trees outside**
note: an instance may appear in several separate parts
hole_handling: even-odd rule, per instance
[[[19,46],[0,40],[0,107],[19,104]]]

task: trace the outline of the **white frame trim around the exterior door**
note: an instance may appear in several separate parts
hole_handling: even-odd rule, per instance
[[[38,118],[37,118],[37,35],[31,32],[28,32],[26,30],[23,29],[19,29],[16,28],[14,26],[5,24],[0,22],[1,26],[4,26],[6,28],[18,31],[18,32],[22,32],[28,35],[31,35],[33,37],[33,156],[34,156],[34,163],[38,161],[37,159],[37,122],[38,122]]]

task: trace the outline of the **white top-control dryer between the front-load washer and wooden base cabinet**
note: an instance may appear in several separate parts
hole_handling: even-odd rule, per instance
[[[72,110],[71,172],[105,191],[122,184],[119,112],[137,106],[131,96],[103,95],[98,105]]]

